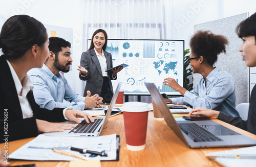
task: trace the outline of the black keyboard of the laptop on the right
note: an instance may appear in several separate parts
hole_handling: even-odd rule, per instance
[[[221,138],[210,133],[196,123],[179,123],[181,130],[195,142],[223,141]]]

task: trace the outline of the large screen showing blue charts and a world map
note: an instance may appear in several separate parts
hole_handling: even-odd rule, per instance
[[[88,39],[88,48],[90,44]],[[108,39],[105,51],[112,54],[113,66],[129,65],[112,80],[114,89],[122,82],[124,94],[148,95],[144,82],[153,82],[160,93],[180,95],[162,83],[165,78],[174,78],[183,87],[184,40]]]

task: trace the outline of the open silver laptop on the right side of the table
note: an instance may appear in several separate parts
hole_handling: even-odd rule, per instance
[[[221,124],[206,121],[175,121],[154,83],[145,82],[165,122],[189,148],[244,147],[256,145],[256,140]],[[195,132],[199,131],[199,132]]]

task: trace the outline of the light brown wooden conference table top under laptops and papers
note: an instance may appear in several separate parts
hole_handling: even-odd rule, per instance
[[[180,114],[187,115],[187,114]],[[242,129],[212,119],[234,131],[256,139],[256,135]],[[165,121],[155,121],[153,112],[148,112],[148,124],[146,134],[146,148],[142,151],[130,151],[126,149],[123,114],[109,118],[108,124],[102,130],[102,135],[116,133],[120,135],[120,160],[101,161],[101,166],[220,166],[209,160],[204,155],[210,152],[225,151],[237,148],[213,148],[213,149],[189,149],[184,142],[168,127]],[[11,154],[19,147],[25,145],[35,137],[8,142],[8,152]],[[4,144],[0,144],[4,150]],[[25,161],[8,160],[11,165],[35,163],[39,166],[69,166],[68,161]]]

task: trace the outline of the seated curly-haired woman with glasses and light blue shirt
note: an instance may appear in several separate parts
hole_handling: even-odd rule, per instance
[[[173,78],[164,79],[163,84],[179,91],[183,97],[171,98],[173,104],[190,104],[193,107],[219,110],[232,116],[239,116],[236,110],[234,79],[226,71],[214,67],[220,53],[226,53],[228,40],[223,35],[210,31],[198,31],[190,39],[189,58],[193,73],[203,77],[194,90],[181,87]]]

